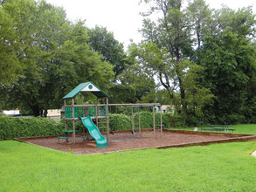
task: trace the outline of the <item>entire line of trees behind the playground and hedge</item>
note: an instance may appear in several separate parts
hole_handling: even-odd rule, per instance
[[[34,115],[62,106],[81,82],[112,103],[160,102],[187,125],[256,122],[252,7],[212,10],[204,0],[141,0],[142,41],[71,22],[44,0],[0,1],[0,108]],[[86,96],[80,96],[80,100]]]

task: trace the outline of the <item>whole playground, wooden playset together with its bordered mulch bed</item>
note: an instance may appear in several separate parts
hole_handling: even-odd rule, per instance
[[[97,97],[97,104],[77,105],[78,93],[93,93]],[[72,92],[66,94],[64,99],[65,108],[65,135],[50,135],[44,137],[33,138],[15,138],[16,141],[22,141],[38,145],[42,147],[61,150],[64,152],[72,152],[73,154],[100,154],[112,153],[116,151],[146,149],[146,148],[169,148],[169,147],[189,147],[198,145],[208,145],[211,143],[223,143],[234,141],[256,141],[256,135],[251,134],[230,134],[229,127],[221,127],[225,129],[225,133],[213,133],[215,127],[211,126],[211,132],[187,131],[187,130],[170,130],[163,129],[161,105],[159,103],[140,103],[140,104],[109,104],[109,96],[104,93],[93,82],[82,83],[75,87]],[[105,102],[102,102],[105,101]],[[123,130],[120,125],[118,134],[110,134],[113,129],[113,122],[109,127],[109,113],[113,108],[120,106],[125,108],[126,112],[130,112],[130,130]],[[143,127],[141,125],[142,107],[150,107],[153,113],[153,126]],[[160,122],[156,120],[156,109],[160,109]],[[138,116],[135,118],[135,109]],[[117,116],[115,116],[116,119]],[[114,120],[114,118],[113,118]],[[137,125],[136,125],[137,120]],[[76,123],[81,121],[83,124],[83,133],[78,133]],[[100,130],[102,121],[107,130],[106,138],[102,136]],[[157,122],[158,121],[158,122]],[[157,122],[157,125],[156,125]],[[160,125],[159,125],[160,124]],[[152,124],[151,124],[152,125]],[[116,125],[117,126],[117,125]],[[126,125],[128,128],[129,125]],[[160,129],[156,130],[156,126]],[[72,128],[70,128],[72,127]],[[153,128],[152,128],[153,127]],[[136,133],[138,129],[139,133]],[[202,129],[202,128],[201,128]],[[203,130],[203,129],[202,129]],[[132,133],[132,134],[131,134]],[[80,139],[79,139],[80,138]],[[59,142],[64,140],[66,142]],[[95,141],[97,147],[95,147]],[[67,145],[69,144],[69,145]]]

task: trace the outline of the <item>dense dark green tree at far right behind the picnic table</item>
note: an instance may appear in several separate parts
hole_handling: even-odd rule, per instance
[[[204,38],[201,53],[204,86],[216,96],[211,113],[216,121],[233,123],[245,105],[246,87],[255,71],[255,50],[244,37],[225,29]]]

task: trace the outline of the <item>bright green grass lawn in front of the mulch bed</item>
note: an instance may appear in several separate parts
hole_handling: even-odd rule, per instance
[[[0,141],[0,191],[255,191],[255,149],[236,142],[74,155]]]

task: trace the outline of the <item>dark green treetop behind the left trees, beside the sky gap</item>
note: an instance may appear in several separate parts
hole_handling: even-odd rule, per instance
[[[96,25],[94,29],[88,29],[88,36],[87,43],[92,51],[99,52],[103,61],[114,66],[116,78],[125,68],[127,56],[123,50],[123,45],[114,39],[113,32],[107,31],[105,27]]]

